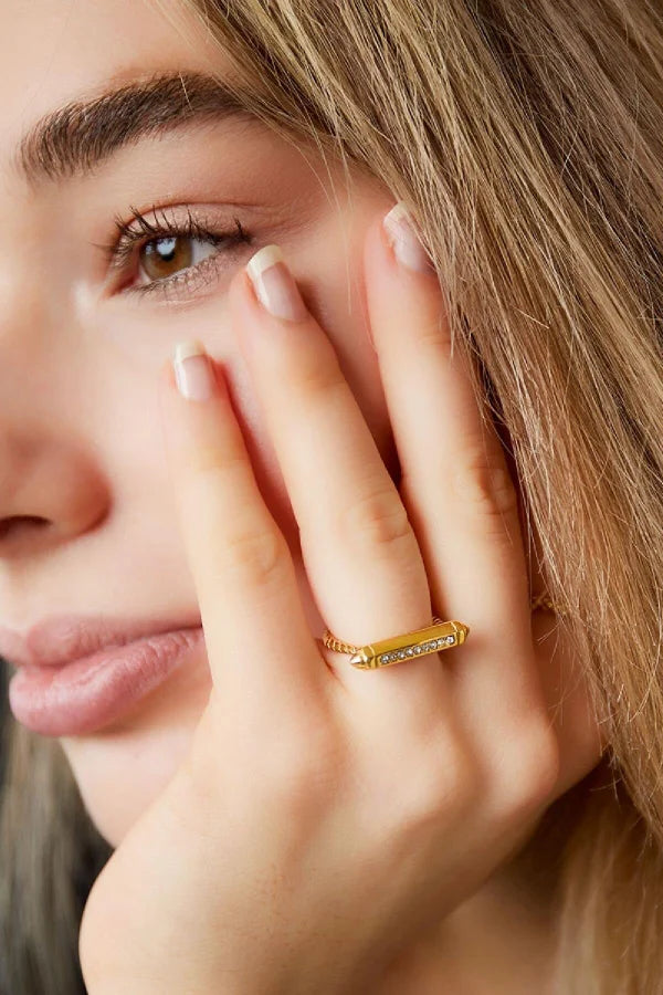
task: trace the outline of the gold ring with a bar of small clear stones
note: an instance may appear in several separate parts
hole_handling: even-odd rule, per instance
[[[532,600],[532,608],[549,608],[559,611],[548,595],[537,595]],[[351,653],[350,663],[359,670],[376,670],[378,667],[390,667],[401,660],[410,660],[414,657],[425,657],[429,653],[438,653],[441,650],[461,646],[470,632],[470,627],[460,621],[443,621],[434,616],[433,624],[411,632],[402,632],[391,636],[389,639],[380,639],[377,642],[368,642],[365,646],[354,646],[343,642],[336,636],[325,629],[323,643],[327,649],[337,653]]]

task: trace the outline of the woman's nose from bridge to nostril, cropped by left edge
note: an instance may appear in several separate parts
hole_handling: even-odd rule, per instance
[[[18,595],[19,568],[30,562],[21,584],[34,590],[41,557],[106,517],[109,488],[99,459],[98,397],[85,386],[91,352],[80,347],[91,336],[81,334],[87,329],[70,295],[72,260],[54,251],[60,208],[19,193],[2,201],[2,217],[0,600],[7,607]]]

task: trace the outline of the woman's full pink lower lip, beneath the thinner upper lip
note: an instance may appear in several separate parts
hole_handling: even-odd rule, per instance
[[[20,667],[9,684],[11,711],[44,736],[96,732],[164,683],[201,646],[201,627],[178,629],[63,667]]]

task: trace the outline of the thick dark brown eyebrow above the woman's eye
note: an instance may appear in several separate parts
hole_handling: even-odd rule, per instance
[[[159,73],[72,101],[21,138],[12,166],[32,187],[85,176],[120,148],[176,128],[230,118],[262,124],[259,95],[204,73]]]

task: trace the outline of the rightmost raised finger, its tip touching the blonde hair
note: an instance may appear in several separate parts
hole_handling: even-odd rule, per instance
[[[434,594],[484,630],[513,617],[528,631],[525,557],[504,452],[460,344],[452,354],[439,281],[400,265],[387,239],[373,223],[365,255],[369,317]]]

